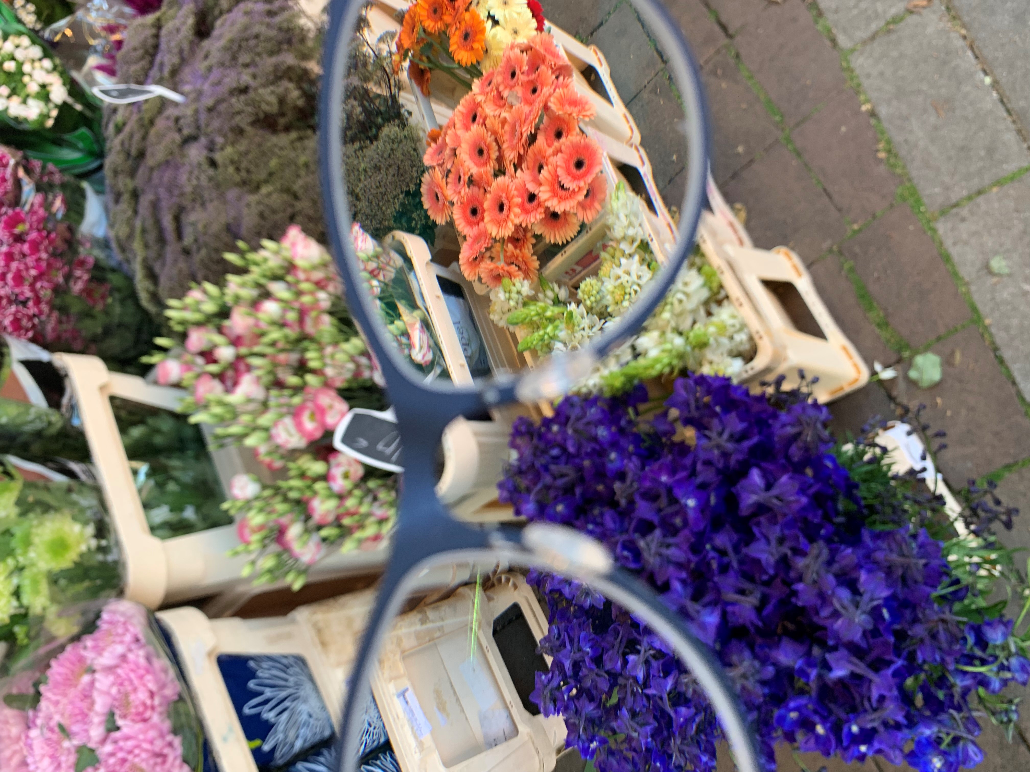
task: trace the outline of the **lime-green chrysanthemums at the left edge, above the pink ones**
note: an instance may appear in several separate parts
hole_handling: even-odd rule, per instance
[[[118,555],[100,491],[75,482],[24,481],[0,465],[0,673],[41,630],[69,634],[71,603],[113,596]]]

